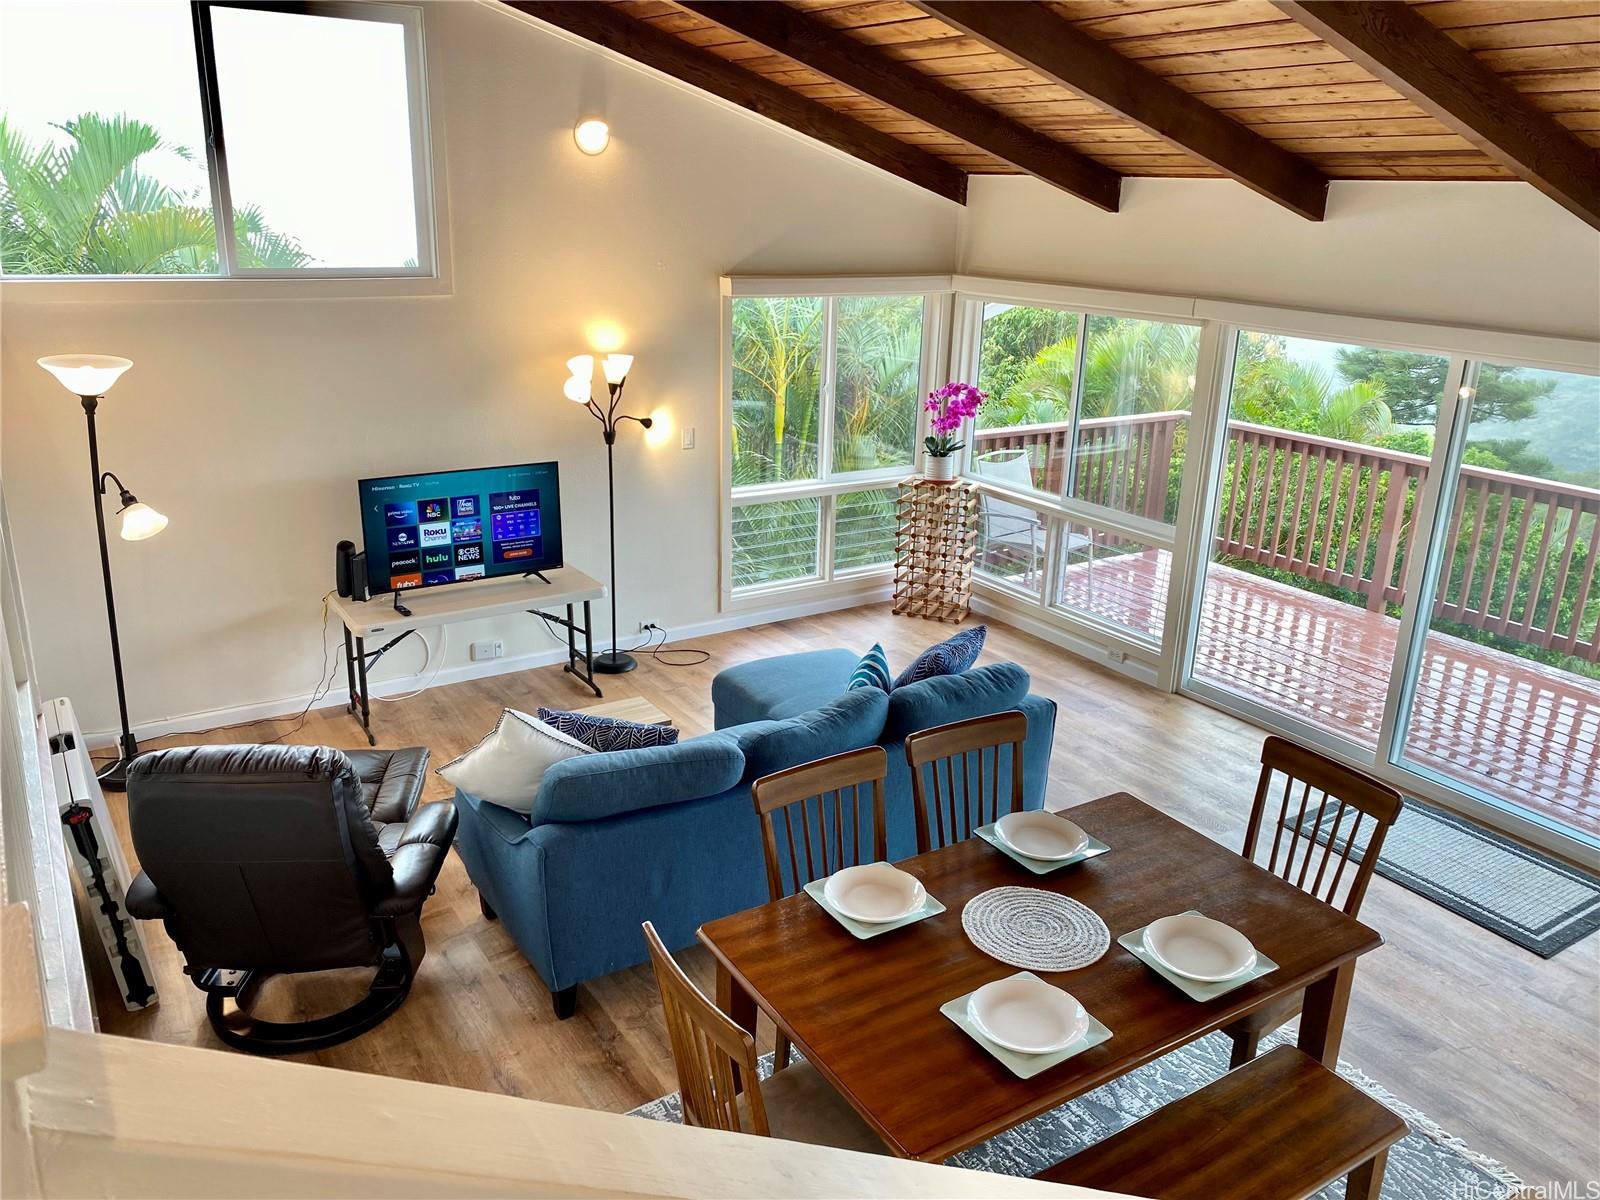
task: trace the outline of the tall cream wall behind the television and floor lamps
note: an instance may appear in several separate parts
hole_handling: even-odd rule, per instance
[[[603,578],[605,448],[560,394],[597,322],[637,355],[627,408],[667,418],[648,443],[634,426],[618,442],[624,645],[642,621],[714,618],[718,275],[954,261],[954,203],[507,10],[426,8],[445,286],[0,288],[0,472],[38,685],[86,728],[115,725],[88,450],[40,355],[134,362],[101,406],[102,462],[171,525],[139,544],[112,533],[133,722],[282,712],[318,678],[318,597],[333,544],[360,542],[362,477],[558,459],[568,562]],[[571,131],[594,114],[613,142],[587,158]],[[678,450],[680,426],[696,450]],[[454,626],[446,672],[475,637],[504,638],[507,659],[554,646],[531,618]],[[376,677],[422,664],[411,642]]]

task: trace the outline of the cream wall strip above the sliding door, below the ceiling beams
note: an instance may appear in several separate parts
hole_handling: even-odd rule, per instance
[[[1520,182],[1336,182],[1306,221],[1227,179],[1125,179],[1102,213],[974,176],[960,258],[970,275],[1600,336],[1600,230]]]

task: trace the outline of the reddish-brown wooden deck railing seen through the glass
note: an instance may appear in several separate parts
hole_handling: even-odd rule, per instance
[[[1074,496],[1170,518],[1174,435],[1187,416],[1080,422]],[[979,429],[973,442],[978,454],[1026,451],[1034,486],[1059,493],[1070,438],[1070,424],[1058,422]],[[1371,611],[1402,605],[1413,512],[1427,470],[1421,454],[1230,421],[1214,550],[1355,592]],[[1597,542],[1600,490],[1466,466],[1451,498],[1448,573],[1434,611],[1600,661],[1600,630],[1586,629],[1589,602],[1600,598]]]

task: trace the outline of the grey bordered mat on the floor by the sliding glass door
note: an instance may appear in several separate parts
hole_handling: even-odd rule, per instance
[[[1328,842],[1334,813],[1317,840]],[[1306,835],[1317,824],[1307,816]],[[1350,829],[1342,822],[1342,845]],[[1355,861],[1366,846],[1363,822]],[[1419,800],[1406,800],[1378,856],[1378,874],[1443,904],[1474,925],[1550,958],[1600,930],[1600,880],[1490,829]]]

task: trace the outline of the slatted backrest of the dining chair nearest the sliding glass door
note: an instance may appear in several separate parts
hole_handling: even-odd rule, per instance
[[[1261,842],[1261,826],[1266,819],[1272,781],[1278,774],[1283,776],[1283,792],[1277,803],[1278,813],[1274,819],[1267,870],[1354,917],[1366,896],[1384,837],[1400,816],[1403,803],[1400,794],[1387,784],[1336,763],[1315,750],[1294,746],[1283,738],[1267,738],[1261,747],[1261,778],[1256,782],[1256,800],[1250,810],[1250,826],[1245,832],[1245,858],[1251,861],[1254,861]],[[1293,802],[1296,784],[1299,786],[1298,808]],[[1320,795],[1315,808],[1312,808],[1310,800],[1312,790]],[[1291,808],[1294,810],[1293,816]],[[1326,824],[1330,810],[1333,811],[1331,826]],[[1355,819],[1346,835],[1341,826],[1347,811],[1354,811]],[[1371,835],[1362,846],[1358,834],[1366,821],[1371,822]],[[1285,827],[1288,827],[1288,853],[1283,854],[1280,864],[1278,850],[1285,840]],[[1306,853],[1296,870],[1294,859],[1302,840]],[[1315,874],[1312,874],[1314,861]],[[1331,875],[1328,872],[1330,861],[1334,864]],[[1350,886],[1341,901],[1339,883],[1352,861],[1357,862],[1355,872],[1350,875]],[[1326,888],[1323,888],[1325,878],[1328,880]],[[1307,880],[1310,880],[1309,886]]]

